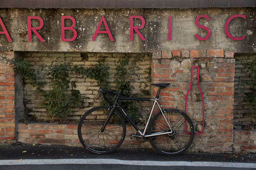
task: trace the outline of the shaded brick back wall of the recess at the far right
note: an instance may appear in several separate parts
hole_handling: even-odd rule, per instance
[[[253,105],[243,101],[246,96],[245,93],[251,91],[249,86],[244,84],[244,80],[247,79],[247,74],[246,69],[243,68],[241,63],[243,60],[255,60],[256,55],[239,54],[235,55],[235,59],[234,125],[236,125],[236,128],[242,128],[244,126],[254,125],[256,122],[250,114],[250,109],[253,108]]]

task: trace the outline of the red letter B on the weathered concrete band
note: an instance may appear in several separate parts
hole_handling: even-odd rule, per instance
[[[65,27],[65,19],[70,19],[72,21],[72,26]],[[61,16],[61,41],[74,41],[77,37],[77,32],[74,28],[76,26],[76,20],[72,16]],[[74,35],[72,38],[65,38],[65,30],[73,31]]]

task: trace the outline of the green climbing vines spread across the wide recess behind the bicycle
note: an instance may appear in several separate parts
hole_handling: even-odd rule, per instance
[[[103,57],[99,57],[98,63],[90,67],[74,66],[72,63],[59,63],[53,65],[40,64],[40,71],[43,77],[50,80],[50,90],[43,91],[42,87],[45,83],[38,80],[38,76],[34,69],[30,68],[28,61],[19,58],[8,59],[6,55],[0,56],[2,60],[13,65],[14,70],[21,74],[26,82],[36,87],[37,91],[43,95],[42,106],[46,108],[47,115],[51,122],[67,122],[67,116],[72,113],[73,108],[83,107],[83,98],[79,90],[76,90],[76,81],[69,79],[70,74],[76,74],[82,78],[93,78],[97,80],[97,84],[105,89],[108,86],[108,79],[110,76],[108,64],[104,63]],[[142,62],[140,56],[135,56],[131,60],[129,54],[117,62],[115,68],[116,74],[114,75],[115,90],[119,91],[125,97],[141,97],[142,95],[150,95],[150,91],[146,90],[147,83],[151,81],[151,68],[147,68],[144,72],[147,77],[145,81],[141,81],[141,94],[134,94],[135,78],[139,75],[136,73],[139,70],[138,62]],[[146,122],[146,114],[142,112],[139,101],[120,100],[120,104],[129,116],[135,120],[136,123],[144,124]],[[103,102],[101,102],[103,103]],[[141,112],[139,116],[137,113]]]

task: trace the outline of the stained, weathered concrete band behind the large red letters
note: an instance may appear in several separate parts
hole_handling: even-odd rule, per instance
[[[78,52],[154,52],[172,49],[227,49],[234,52],[255,52],[255,8],[207,8],[207,9],[0,9],[0,16],[11,35],[9,43],[5,35],[0,35],[0,50],[14,51],[78,51]],[[77,39],[72,42],[61,42],[61,16],[70,15],[76,19]],[[211,36],[206,41],[199,41],[195,34],[205,36],[206,31],[195,24],[198,15],[206,14],[211,19],[200,20],[208,26]],[[224,25],[231,15],[246,15],[233,19],[229,30],[231,35],[245,35],[242,41],[234,41],[227,37]],[[91,41],[101,15],[104,15],[110,27],[114,42],[107,34],[99,34],[96,41]],[[134,33],[134,41],[130,41],[129,16],[142,15],[145,27],[141,29],[146,41],[141,41]],[[172,15],[172,40],[168,41],[168,16]],[[34,35],[28,42],[27,16],[40,16],[44,26],[38,32],[45,42],[40,42]],[[71,25],[70,20],[65,21]],[[134,26],[141,22],[134,20]],[[32,26],[39,25],[32,20]],[[105,28],[102,28],[105,30]],[[66,38],[72,37],[66,31]]]

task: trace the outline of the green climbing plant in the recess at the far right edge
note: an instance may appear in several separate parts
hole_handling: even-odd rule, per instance
[[[251,109],[252,117],[255,119],[256,126],[256,60],[243,61],[244,68],[246,68],[246,73],[248,75],[248,80],[243,80],[246,85],[250,86],[250,93],[245,93],[246,97],[244,101],[249,102],[253,105]]]

